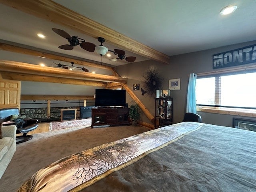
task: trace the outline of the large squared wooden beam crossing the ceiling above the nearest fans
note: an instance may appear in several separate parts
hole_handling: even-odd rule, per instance
[[[94,38],[103,37],[110,44],[144,57],[166,64],[170,63],[170,57],[166,54],[158,52],[51,0],[0,0],[0,2]]]

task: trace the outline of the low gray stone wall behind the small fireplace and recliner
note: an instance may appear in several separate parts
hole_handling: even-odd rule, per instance
[[[60,110],[61,109],[68,109],[68,108],[76,108],[76,118],[80,116],[80,107],[53,107],[51,108],[50,117],[47,117],[47,108],[24,108],[20,109],[20,114],[22,116],[26,116],[24,118],[32,118],[32,119],[39,119],[41,122],[44,121],[56,121],[60,120]]]

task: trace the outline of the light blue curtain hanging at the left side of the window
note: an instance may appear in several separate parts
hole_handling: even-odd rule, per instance
[[[186,112],[196,113],[196,74],[190,73]]]

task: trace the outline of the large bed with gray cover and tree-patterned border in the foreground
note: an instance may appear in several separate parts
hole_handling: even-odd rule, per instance
[[[182,122],[62,158],[19,192],[256,191],[256,132]]]

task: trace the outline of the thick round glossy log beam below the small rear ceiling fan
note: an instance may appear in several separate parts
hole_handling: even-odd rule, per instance
[[[43,76],[61,77],[61,78],[72,78],[81,80],[92,80],[100,82],[115,82],[115,83],[127,83],[126,78],[102,75],[102,74],[92,74],[86,72],[74,72],[65,69],[52,68],[52,67],[39,67],[34,64],[27,64],[22,62],[6,61],[0,60],[0,71],[2,72],[14,72],[22,74],[35,74]]]

